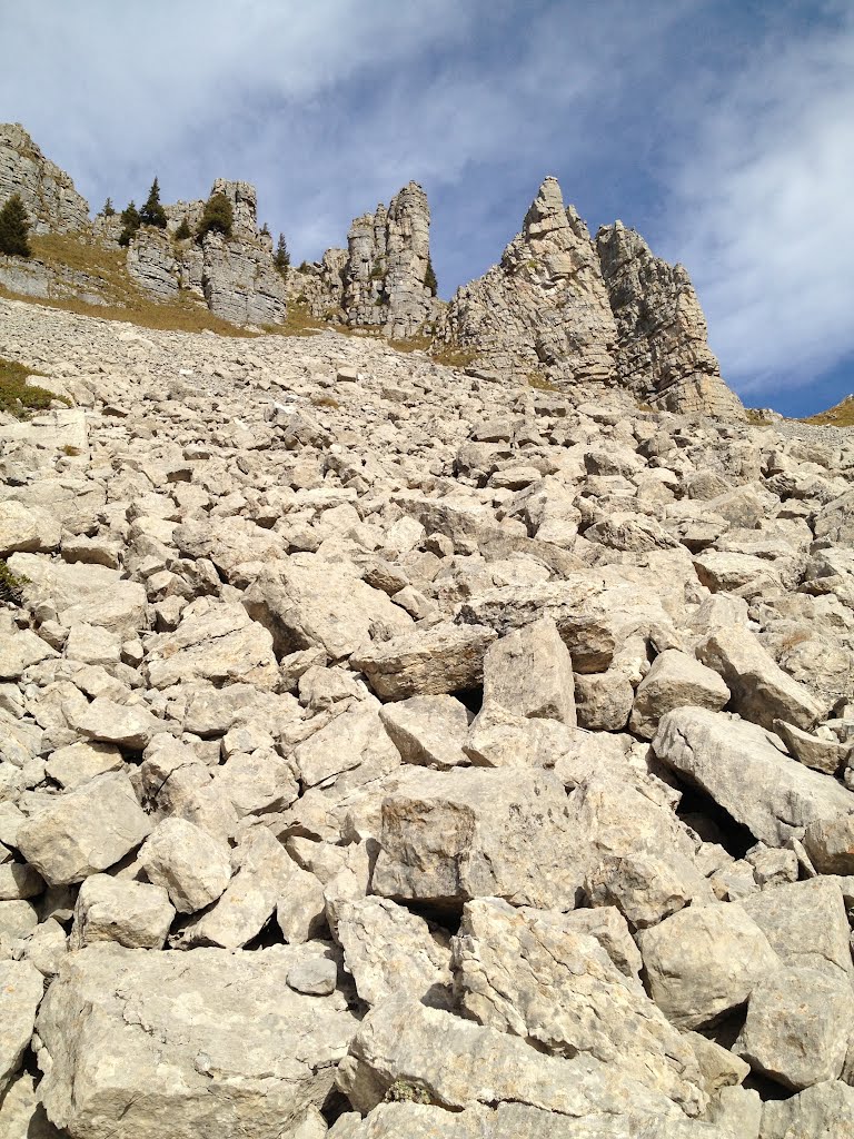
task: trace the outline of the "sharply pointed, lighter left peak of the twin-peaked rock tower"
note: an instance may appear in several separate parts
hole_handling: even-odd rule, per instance
[[[501,263],[463,285],[443,338],[502,374],[548,369],[561,380],[609,382],[617,330],[584,222],[547,178]]]

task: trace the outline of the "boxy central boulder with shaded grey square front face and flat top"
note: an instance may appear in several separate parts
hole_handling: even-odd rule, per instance
[[[564,786],[544,771],[404,773],[379,844],[373,892],[393,899],[573,909],[583,874]]]

